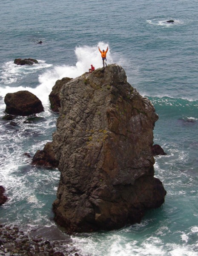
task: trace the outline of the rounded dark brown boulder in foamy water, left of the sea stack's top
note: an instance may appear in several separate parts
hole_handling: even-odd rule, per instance
[[[7,93],[4,102],[6,103],[6,113],[11,115],[29,116],[44,111],[40,99],[26,90]]]

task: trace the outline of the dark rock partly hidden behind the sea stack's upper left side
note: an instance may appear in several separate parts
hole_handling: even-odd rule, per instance
[[[60,108],[60,91],[64,84],[67,84],[72,78],[65,77],[61,80],[57,80],[55,85],[52,87],[52,92],[49,94],[49,101],[52,111],[59,112]]]

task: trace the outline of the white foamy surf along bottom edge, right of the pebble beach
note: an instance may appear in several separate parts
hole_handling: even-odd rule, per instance
[[[143,239],[141,244],[138,241],[126,238],[123,234],[109,233],[109,235],[92,234],[89,237],[72,236],[72,241],[76,248],[81,249],[83,254],[92,256],[195,256],[197,252],[193,251],[193,246],[164,243],[158,237],[150,236],[148,239]]]

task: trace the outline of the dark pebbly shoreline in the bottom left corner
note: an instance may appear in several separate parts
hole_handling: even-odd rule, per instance
[[[0,224],[0,255],[3,256],[83,256],[72,245],[69,235],[57,227],[25,230],[17,225]]]

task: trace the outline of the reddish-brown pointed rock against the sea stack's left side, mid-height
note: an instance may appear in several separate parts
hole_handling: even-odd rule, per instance
[[[55,152],[51,142],[46,143],[43,150],[37,150],[32,159],[32,165],[57,167],[58,161],[55,159]]]

